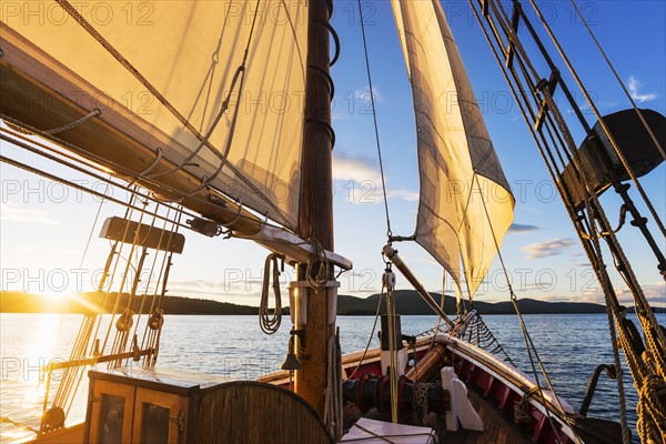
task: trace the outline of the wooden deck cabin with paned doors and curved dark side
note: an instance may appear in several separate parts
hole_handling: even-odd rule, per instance
[[[333,442],[309,404],[275,385],[144,367],[89,375],[84,442]]]

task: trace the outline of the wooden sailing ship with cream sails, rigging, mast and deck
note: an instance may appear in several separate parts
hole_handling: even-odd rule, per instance
[[[495,354],[501,346],[473,344],[473,329],[493,337],[483,320],[464,309],[450,319],[397,252],[400,242],[415,241],[451,276],[460,297],[472,299],[513,221],[508,181],[440,2],[392,1],[415,109],[418,216],[414,235],[395,235],[389,226],[386,244],[377,245],[385,259],[382,345],[345,356],[335,329],[335,275],[353,263],[333,242],[330,67],[339,58],[330,24],[333,2],[36,4],[51,19],[34,26],[32,9],[17,6],[0,23],[6,124],[0,138],[131,198],[118,202],[125,214],[101,229],[111,251],[99,297],[111,307],[111,322],[102,322],[101,310],[92,307],[70,359],[49,366],[49,382],[58,373],[60,384],[53,398],[47,387],[34,442],[629,442],[626,421],[585,417],[539,376],[543,363],[513,291],[532,375]],[[559,49],[532,4],[548,44]],[[645,443],[659,442],[666,436],[664,331],[599,195],[615,189],[659,270],[666,270],[659,241],[642,223],[645,216],[624,183],[634,183],[649,202],[638,178],[664,160],[664,117],[637,108],[601,115],[588,100],[596,114],[589,124],[523,4],[511,7],[471,3],[604,290],[618,390],[624,390],[622,349],[640,395],[638,435]],[[566,56],[563,60],[568,68]],[[535,68],[544,63],[545,73]],[[249,91],[275,101],[246,108]],[[447,91],[463,98],[454,112],[446,107]],[[564,93],[584,129],[579,147],[556,92]],[[154,108],[145,108],[149,102]],[[1,160],[82,188],[37,164]],[[451,199],[443,184],[452,183],[470,186]],[[649,210],[664,234],[659,215]],[[281,372],[228,382],[160,367],[161,301],[172,258],[183,252],[182,230],[245,239],[270,251],[260,309],[266,333],[282,322],[279,296],[269,307],[276,286],[270,276],[281,266],[294,268],[290,353]],[[627,282],[644,337],[617,301],[602,243]],[[155,286],[140,297],[141,273],[131,279],[128,271],[143,269],[150,269]],[[394,269],[440,316],[441,327],[402,335]],[[118,285],[113,292],[112,285]],[[123,293],[125,286],[130,291]],[[67,414],[82,377],[90,380],[85,421],[70,425]],[[353,424],[345,424],[350,411]]]

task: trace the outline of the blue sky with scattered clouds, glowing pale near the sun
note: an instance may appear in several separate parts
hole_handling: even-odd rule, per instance
[[[571,4],[566,1],[539,4],[601,112],[629,108]],[[638,107],[664,114],[666,3],[583,1],[577,4]],[[443,2],[443,7],[516,200],[514,224],[502,248],[514,291],[518,297],[542,301],[601,303],[603,295],[576,233],[467,2]],[[354,270],[340,276],[340,293],[367,296],[381,289],[386,222],[356,8],[356,2],[336,0],[332,20],[342,43],[340,61],[332,68],[336,91],[332,115],[337,140],[333,151],[335,250],[354,262]],[[418,179],[407,73],[390,2],[363,2],[363,13],[392,230],[394,234],[411,235],[415,229]],[[584,102],[581,93],[575,93],[575,98]],[[592,112],[588,109],[585,112],[592,121]],[[582,139],[581,134],[574,137],[578,142]],[[1,143],[3,155],[39,162]],[[0,165],[0,173],[1,290],[53,296],[92,290],[109,253],[109,243],[94,235],[99,231],[99,222],[93,226],[95,214],[101,208],[101,221],[121,215],[122,209],[109,202],[100,206],[98,198],[7,164]],[[102,183],[79,179],[103,190]],[[642,178],[642,183],[658,214],[666,219],[664,164]],[[616,223],[619,203],[612,194],[606,192],[602,200]],[[114,198],[125,196],[114,194]],[[634,198],[647,215],[636,193]],[[650,228],[656,235],[654,223]],[[92,242],[82,260],[91,230]],[[646,294],[657,305],[666,305],[666,287],[657,272],[656,259],[637,229],[627,223],[618,235]],[[663,238],[657,239],[664,246]],[[442,269],[425,251],[413,243],[398,244],[397,249],[427,290],[442,291]],[[607,250],[605,253],[609,261]],[[258,305],[266,254],[250,242],[186,233],[185,250],[173,261],[169,294]],[[293,278],[293,271],[285,270],[283,294]],[[628,303],[617,278],[614,283],[622,300]],[[397,289],[408,287],[398,275]],[[451,280],[444,287],[452,292]],[[507,300],[506,290],[504,274],[495,261],[476,299]]]

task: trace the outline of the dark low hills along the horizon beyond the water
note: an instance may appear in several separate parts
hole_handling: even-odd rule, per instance
[[[427,315],[433,314],[431,309],[418,296],[415,291],[398,290],[394,292],[396,312],[400,314]],[[145,302],[143,302],[145,297]],[[337,314],[340,315],[374,315],[377,306],[379,294],[370,297],[355,297],[345,294],[337,296]],[[433,297],[440,302],[440,294],[433,294]],[[128,295],[122,294],[119,306],[125,306]],[[132,310],[138,312],[141,303],[144,303],[144,312],[150,307],[152,296],[137,296],[132,302]],[[69,302],[52,299],[49,296],[36,295],[21,292],[0,292],[0,312],[1,313],[62,313],[65,307],[68,313],[84,313],[90,310],[98,310],[102,313],[109,313],[115,302],[114,294],[104,295],[97,293],[83,293]],[[69,305],[68,305],[69,304]],[[582,314],[582,313],[605,313],[604,305],[592,304],[587,302],[543,302],[532,299],[518,300],[518,306],[523,314]],[[165,296],[162,309],[167,314],[258,314],[256,306],[238,305],[228,302],[219,302],[205,299],[192,299],[182,296]],[[513,304],[506,302],[475,302],[474,309],[481,314],[513,314]],[[382,311],[385,311],[385,301],[382,301]],[[444,297],[444,311],[455,313],[455,299],[453,296]],[[633,312],[633,307],[628,309]],[[659,313],[666,312],[664,309],[657,310]],[[289,307],[283,309],[289,313]]]

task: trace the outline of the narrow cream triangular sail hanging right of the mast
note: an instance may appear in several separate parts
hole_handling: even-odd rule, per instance
[[[473,296],[513,221],[514,198],[440,2],[392,3],[416,115],[416,241],[458,284],[464,272]]]

